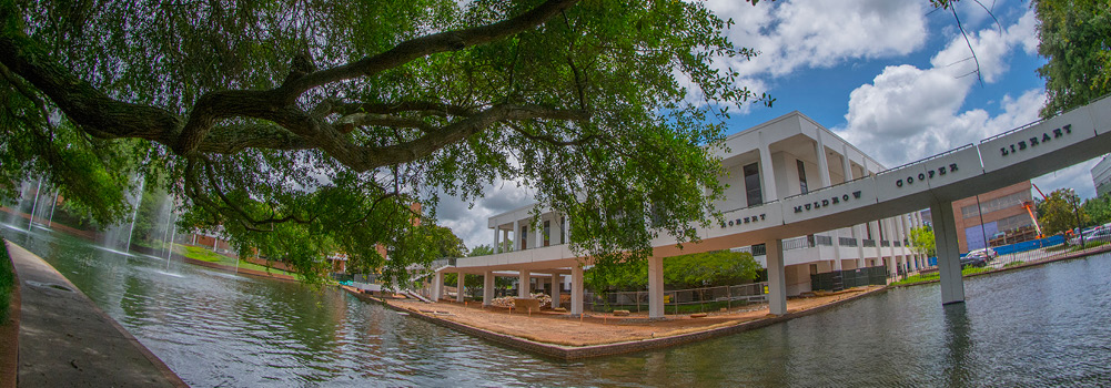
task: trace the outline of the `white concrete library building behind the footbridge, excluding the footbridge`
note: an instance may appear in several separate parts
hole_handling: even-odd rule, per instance
[[[715,155],[722,159],[725,175],[721,176],[721,182],[728,187],[724,197],[714,203],[714,207],[727,213],[727,216],[733,210],[759,208],[764,203],[807,194],[883,170],[882,165],[855,146],[799,112],[791,112],[729,136],[723,146],[715,150]],[[835,203],[840,198],[828,201]],[[801,205],[800,212],[823,205],[830,204]],[[529,278],[541,278],[542,280],[537,282],[541,286],[537,288],[547,292],[552,289],[552,285],[568,284],[572,289],[572,313],[578,313],[574,307],[575,300],[579,300],[581,309],[581,284],[574,277],[581,269],[567,246],[569,222],[573,221],[542,208],[540,218],[533,224],[534,206],[528,205],[490,217],[488,225],[493,232],[491,243],[494,255],[460,258],[457,268],[447,270],[492,276],[517,275],[526,284]],[[765,216],[735,217],[728,219],[722,229],[765,221]],[[887,266],[893,275],[897,268],[911,272],[921,268],[925,265],[925,257],[907,246],[910,228],[921,223],[918,212],[913,212],[782,239],[787,295],[811,290],[810,275],[818,273]],[[667,237],[659,239],[653,242],[653,246],[669,243]],[[757,261],[767,267],[764,243],[764,239],[753,236],[737,239],[735,245],[720,248],[752,252]],[[673,245],[673,241],[671,244]],[[663,254],[659,258],[667,256],[672,254]],[[571,278],[564,277],[568,275]],[[662,276],[659,277],[662,282]],[[574,289],[577,287],[579,289]],[[521,296],[524,296],[524,292],[521,290]]]

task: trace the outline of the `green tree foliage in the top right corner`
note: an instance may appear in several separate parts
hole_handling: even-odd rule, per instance
[[[1035,0],[1038,69],[1049,101],[1043,116],[1111,93],[1111,7],[1107,0]]]

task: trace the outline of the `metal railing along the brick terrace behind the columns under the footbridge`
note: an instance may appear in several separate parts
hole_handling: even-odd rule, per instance
[[[663,292],[665,314],[689,314],[732,308],[768,300],[767,282]],[[584,308],[591,312],[648,310],[648,292],[584,293]]]

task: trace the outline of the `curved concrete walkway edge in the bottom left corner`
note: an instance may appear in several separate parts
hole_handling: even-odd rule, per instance
[[[22,299],[19,386],[188,387],[50,264],[4,243]]]

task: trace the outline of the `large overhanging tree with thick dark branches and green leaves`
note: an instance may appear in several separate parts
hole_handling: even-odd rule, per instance
[[[0,22],[4,197],[43,177],[107,224],[146,184],[310,280],[330,252],[429,263],[440,195],[499,181],[599,265],[695,238],[721,194],[704,146],[772,101],[714,62],[755,52],[701,2],[16,0]]]

